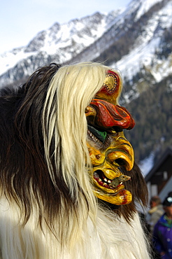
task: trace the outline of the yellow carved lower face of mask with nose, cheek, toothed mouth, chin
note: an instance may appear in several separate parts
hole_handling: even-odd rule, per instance
[[[111,204],[129,204],[132,195],[124,189],[123,182],[129,181],[130,177],[124,176],[119,167],[122,165],[127,170],[132,169],[134,151],[123,132],[110,137],[110,144],[104,150],[99,149],[99,145],[91,139],[87,139],[87,147],[93,166],[94,195]]]

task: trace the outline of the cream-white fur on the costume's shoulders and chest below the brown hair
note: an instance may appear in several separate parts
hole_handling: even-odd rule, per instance
[[[87,232],[80,229],[80,240],[71,240],[71,250],[67,244],[62,250],[50,229],[44,225],[43,232],[38,227],[34,215],[23,228],[16,208],[11,204],[9,206],[5,200],[0,205],[0,217],[1,259],[150,258],[138,214],[135,214],[129,225],[123,217],[118,218],[110,211],[99,209],[96,225],[87,218]]]

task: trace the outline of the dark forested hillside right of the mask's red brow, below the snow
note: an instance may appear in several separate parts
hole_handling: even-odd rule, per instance
[[[155,162],[168,146],[172,146],[172,76],[156,83],[141,93],[126,108],[136,126],[125,132],[139,162],[155,153]]]

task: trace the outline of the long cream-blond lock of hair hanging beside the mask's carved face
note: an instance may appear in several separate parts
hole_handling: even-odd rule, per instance
[[[92,166],[86,144],[85,108],[103,85],[107,69],[91,62],[62,66],[53,76],[45,99],[42,124],[48,169],[55,188],[59,185],[56,174],[61,174],[75,205],[75,211],[73,207],[66,211],[62,204],[62,214],[67,217],[60,217],[61,225],[66,225],[63,221],[68,222],[69,217],[71,224],[65,241],[76,239],[76,225],[80,235],[88,215],[96,223],[96,199],[88,174]]]

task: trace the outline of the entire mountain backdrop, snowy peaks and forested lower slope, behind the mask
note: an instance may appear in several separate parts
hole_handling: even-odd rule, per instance
[[[26,46],[2,53],[0,87],[19,85],[50,62],[98,61],[113,66],[124,79],[120,102],[138,120],[131,143],[138,160],[152,161],[157,151],[172,145],[171,39],[172,0],[132,0],[124,10],[94,13],[63,25],[55,22]]]

